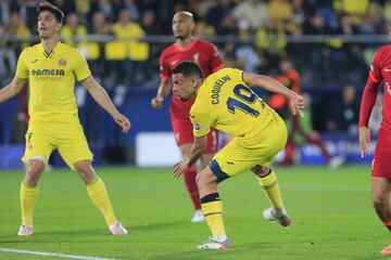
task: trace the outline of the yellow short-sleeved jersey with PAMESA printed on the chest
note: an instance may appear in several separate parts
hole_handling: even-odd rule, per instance
[[[28,114],[35,120],[63,120],[77,115],[75,80],[91,75],[83,54],[59,42],[47,53],[42,43],[26,48],[17,61],[16,77],[28,79]]]

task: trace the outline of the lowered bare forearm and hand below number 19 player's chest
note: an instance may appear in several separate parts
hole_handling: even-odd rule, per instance
[[[190,153],[185,155],[185,158],[175,164],[173,167],[173,176],[175,179],[178,179],[185,171],[187,171],[190,166],[192,166],[202,155],[206,147],[207,138],[195,138],[191,145]]]

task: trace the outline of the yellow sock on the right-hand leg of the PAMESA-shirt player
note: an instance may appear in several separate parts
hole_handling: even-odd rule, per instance
[[[103,181],[98,178],[91,183],[87,184],[87,192],[91,200],[97,205],[102,212],[108,225],[112,225],[115,222],[113,207],[111,205],[108,192],[105,190]]]

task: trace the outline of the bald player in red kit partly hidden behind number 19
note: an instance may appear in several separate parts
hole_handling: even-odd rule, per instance
[[[223,67],[223,62],[217,54],[217,49],[214,44],[207,41],[194,39],[192,30],[194,29],[193,16],[190,12],[177,12],[173,18],[173,32],[176,42],[165,49],[161,54],[161,84],[157,94],[152,99],[152,107],[162,107],[163,100],[168,95],[171,87],[172,70],[180,62],[193,61],[198,63],[202,69],[204,78],[210,74],[217,72]],[[190,107],[193,100],[182,102],[177,95],[173,94],[172,104],[169,108],[172,127],[175,135],[175,141],[182,154],[190,152],[193,142],[192,123],[189,119]],[[218,132],[213,130],[207,136],[207,146],[201,157],[201,166],[205,168],[209,161],[213,158],[217,150]],[[184,174],[186,187],[194,206],[194,216],[192,222],[203,221],[204,217],[201,211],[200,195],[195,183],[197,167],[193,165]]]

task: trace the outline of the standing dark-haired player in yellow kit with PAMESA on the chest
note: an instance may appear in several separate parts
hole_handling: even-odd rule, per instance
[[[55,148],[86,183],[88,195],[103,213],[110,232],[113,235],[126,234],[127,231],[114,216],[103,181],[91,166],[92,154],[77,114],[75,80],[87,88],[122,127],[123,132],[130,129],[130,122],[115,108],[104,89],[94,80],[83,54],[59,41],[63,12],[49,2],[42,2],[37,10],[41,42],[22,52],[14,79],[0,90],[0,102],[3,102],[20,93],[29,82],[30,120],[22,158],[26,165],[26,174],[21,185],[22,225],[18,235],[33,234],[38,180]]]

